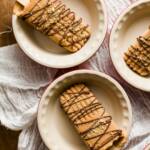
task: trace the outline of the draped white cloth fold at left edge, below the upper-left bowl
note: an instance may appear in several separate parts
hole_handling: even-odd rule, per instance
[[[33,62],[16,44],[0,48],[2,125],[19,130],[32,124],[41,94],[56,71]]]

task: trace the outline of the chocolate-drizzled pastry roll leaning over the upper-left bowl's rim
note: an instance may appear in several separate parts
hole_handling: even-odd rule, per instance
[[[30,0],[26,6],[17,2],[14,13],[70,52],[80,50],[91,35],[89,25],[60,0]]]

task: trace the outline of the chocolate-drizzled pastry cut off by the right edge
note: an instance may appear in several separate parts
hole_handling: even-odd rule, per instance
[[[140,76],[150,76],[150,27],[129,47],[124,60]]]

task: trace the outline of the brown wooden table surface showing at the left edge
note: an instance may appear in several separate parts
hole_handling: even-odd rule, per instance
[[[0,33],[11,30],[12,6],[15,0],[0,0]],[[15,43],[13,32],[0,34],[0,46]],[[7,130],[0,125],[0,150],[17,150],[19,132]]]

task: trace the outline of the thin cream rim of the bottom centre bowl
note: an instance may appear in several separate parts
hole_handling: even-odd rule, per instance
[[[42,106],[43,106],[43,102],[45,100],[45,98],[47,97],[49,91],[51,89],[53,89],[55,87],[55,85],[59,82],[61,82],[62,80],[64,80],[65,78],[67,77],[70,77],[74,74],[84,74],[84,73],[87,73],[87,74],[93,74],[93,75],[97,75],[97,76],[100,76],[100,77],[103,77],[105,78],[106,80],[109,80],[109,82],[113,83],[117,88],[118,90],[122,93],[124,99],[125,99],[125,102],[126,102],[126,105],[127,105],[127,108],[128,108],[128,112],[129,112],[129,124],[128,124],[128,135],[131,131],[131,126],[132,126],[132,106],[131,106],[131,102],[128,98],[128,95],[126,94],[126,92],[124,91],[123,87],[115,80],[113,79],[112,77],[110,77],[109,75],[105,74],[105,73],[102,73],[102,72],[98,72],[98,71],[93,71],[93,70],[86,70],[86,69],[82,69],[82,70],[75,70],[75,71],[71,71],[69,73],[66,73],[60,77],[58,77],[57,79],[55,79],[48,87],[47,89],[45,90],[42,98],[41,98],[41,101],[39,103],[39,107],[38,107],[38,115],[37,115],[37,122],[38,122],[38,129],[39,129],[39,133],[44,141],[44,143],[48,146],[48,148],[52,149],[52,150],[55,150],[53,148],[53,146],[51,146],[48,142],[46,142],[46,138],[47,137],[44,137],[43,133],[42,133],[42,128],[41,128],[41,119],[40,119],[40,113],[41,113],[41,110],[42,110]]]

